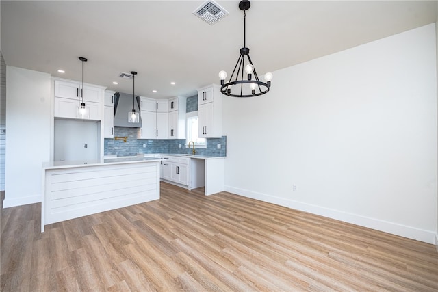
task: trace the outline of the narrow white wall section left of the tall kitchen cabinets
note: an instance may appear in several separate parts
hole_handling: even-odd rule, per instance
[[[5,200],[3,207],[41,201],[42,162],[49,161],[50,75],[6,67]]]

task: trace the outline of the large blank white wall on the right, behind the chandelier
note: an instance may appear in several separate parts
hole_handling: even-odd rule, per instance
[[[266,96],[224,97],[226,190],[433,243],[436,66],[431,24],[276,71]]]

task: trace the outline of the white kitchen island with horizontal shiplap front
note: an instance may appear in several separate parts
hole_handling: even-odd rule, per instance
[[[46,224],[159,199],[159,159],[58,162],[43,168]]]

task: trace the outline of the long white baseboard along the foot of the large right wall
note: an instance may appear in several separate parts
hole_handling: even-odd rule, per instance
[[[278,204],[280,206],[288,207],[291,209],[296,209],[298,211],[304,211],[308,213],[312,213],[315,215],[321,215],[324,217],[329,217],[335,220],[340,220],[343,222],[348,222],[351,224],[356,224],[359,226],[372,228],[375,230],[383,231],[385,233],[391,233],[394,235],[400,235],[402,237],[407,237],[410,239],[415,239],[418,241],[430,243],[437,245],[436,241],[438,240],[434,232],[429,230],[422,230],[419,228],[413,228],[411,226],[405,226],[402,224],[397,224],[394,222],[388,222],[385,220],[379,220],[372,217],[365,217],[357,214],[347,213],[344,211],[339,211],[335,209],[329,209],[325,207],[320,207],[313,204],[306,204],[303,202],[298,202],[295,200],[289,200],[286,198],[279,198],[275,196],[270,196],[267,194],[261,194],[255,191],[248,191],[247,189],[240,189],[237,187],[231,187],[229,185],[225,186],[225,191],[228,191],[233,194],[237,194],[240,196],[245,196],[248,198],[253,198],[256,200],[261,200],[263,202],[270,202],[272,204]],[[435,239],[434,239],[435,238]]]

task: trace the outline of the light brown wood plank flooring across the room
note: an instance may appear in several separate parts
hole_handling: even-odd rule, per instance
[[[438,291],[434,245],[226,192],[46,226],[1,209],[1,291]]]

